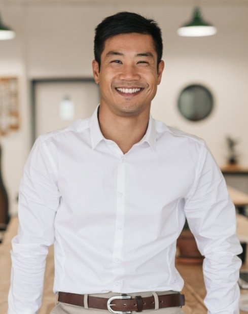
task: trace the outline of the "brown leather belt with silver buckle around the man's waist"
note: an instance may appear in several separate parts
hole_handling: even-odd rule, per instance
[[[58,301],[72,305],[84,306],[84,295],[68,292],[59,292]],[[180,293],[165,294],[158,296],[159,308],[183,306],[185,304],[184,295]],[[128,295],[114,296],[110,299],[88,296],[88,307],[109,310],[112,313],[118,312],[141,312],[145,309],[154,309],[154,297],[136,296],[131,299]]]

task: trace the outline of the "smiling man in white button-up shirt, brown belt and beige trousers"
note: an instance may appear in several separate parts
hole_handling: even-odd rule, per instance
[[[53,314],[183,313],[174,267],[185,216],[199,250],[208,312],[238,313],[235,211],[204,142],[150,117],[164,62],[161,31],[128,12],[96,28],[100,105],[40,136],[20,187],[9,314],[41,305],[54,243]]]

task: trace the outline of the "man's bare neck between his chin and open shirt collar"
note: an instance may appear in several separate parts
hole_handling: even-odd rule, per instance
[[[100,107],[98,121],[103,136],[114,141],[125,154],[146,134],[149,113],[123,117],[111,113],[107,115]]]

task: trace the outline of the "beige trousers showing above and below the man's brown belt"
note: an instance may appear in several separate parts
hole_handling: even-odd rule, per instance
[[[157,295],[171,294],[171,293],[174,293],[174,291],[156,292]],[[91,296],[105,297],[105,298],[111,298],[116,295],[120,295],[120,293],[110,292],[110,293],[101,293],[101,294],[91,294]],[[152,292],[139,292],[139,293],[128,293],[128,295],[132,296],[133,298],[138,295],[140,295],[141,297],[149,297],[149,296],[152,296],[153,293]],[[133,314],[134,313],[136,312],[134,311]],[[145,310],[143,311],[143,313],[144,314],[184,314],[184,311],[182,310],[181,307],[167,307],[167,308],[156,309],[156,312],[154,312],[154,309]],[[82,306],[76,306],[76,305],[70,305],[70,304],[58,302],[50,314],[110,314],[110,312],[107,310],[87,308],[87,305],[86,307],[82,307]]]

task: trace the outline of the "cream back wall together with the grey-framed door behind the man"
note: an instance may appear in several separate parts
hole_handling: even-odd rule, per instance
[[[216,26],[214,36],[178,36],[195,5]],[[154,118],[203,137],[220,166],[227,163],[231,136],[238,142],[238,164],[248,168],[248,0],[0,0],[3,22],[16,32],[14,39],[0,41],[0,80],[18,82],[18,127],[0,136],[11,214],[17,211],[33,138],[95,109],[94,28],[118,11],[154,18],[162,28],[165,71],[153,101]],[[181,91],[192,84],[205,86],[214,103],[206,119],[193,122],[178,109]],[[248,193],[247,177],[236,183]]]

